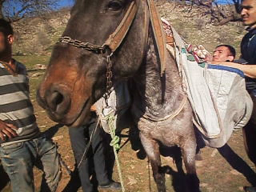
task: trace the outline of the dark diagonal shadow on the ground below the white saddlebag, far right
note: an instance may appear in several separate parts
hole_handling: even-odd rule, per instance
[[[242,173],[252,186],[256,186],[256,173],[240,156],[238,156],[238,154],[232,150],[232,148],[230,148],[230,146],[228,146],[228,144],[219,148],[218,151],[232,166],[232,168]]]

